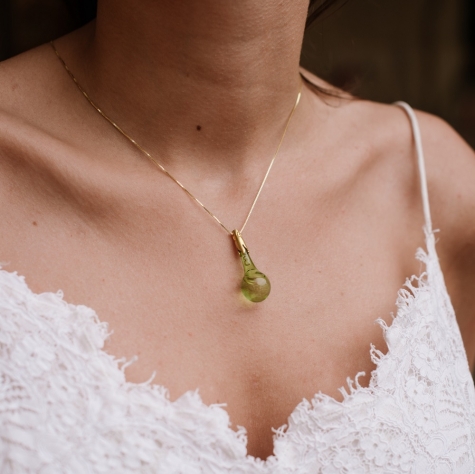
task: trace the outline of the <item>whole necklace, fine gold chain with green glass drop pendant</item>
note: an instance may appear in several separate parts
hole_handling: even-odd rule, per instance
[[[264,275],[264,273],[260,272],[254,265],[254,262],[252,261],[251,256],[249,255],[249,249],[247,248],[247,245],[244,242],[244,239],[242,238],[242,232],[244,231],[244,228],[246,227],[246,224],[249,218],[251,217],[252,211],[254,210],[257,200],[259,199],[259,196],[261,194],[261,191],[264,188],[264,184],[267,180],[267,177],[269,176],[270,170],[272,169],[272,165],[274,164],[274,161],[279,153],[280,147],[282,146],[282,142],[284,141],[285,135],[287,133],[287,129],[289,128],[289,125],[290,125],[290,121],[292,120],[295,110],[297,109],[297,106],[299,105],[300,98],[302,96],[302,81],[300,82],[300,88],[297,94],[297,98],[295,100],[295,104],[289,114],[289,117],[287,118],[287,122],[285,123],[284,131],[279,140],[279,144],[277,145],[277,149],[275,150],[274,156],[272,157],[269,167],[267,168],[267,172],[264,175],[264,179],[262,180],[261,185],[259,186],[259,189],[257,190],[256,197],[254,198],[254,201],[252,202],[251,209],[249,210],[247,214],[246,220],[244,221],[244,224],[241,227],[241,230],[234,229],[230,231],[197,197],[195,197],[190,191],[188,191],[188,189],[186,189],[185,186],[183,186],[183,184],[180,183],[180,181],[178,181],[169,171],[167,171],[163,165],[161,165],[155,158],[153,158],[153,156],[148,151],[142,148],[130,135],[128,135],[124,130],[122,130],[122,128],[120,128],[119,125],[117,125],[111,118],[109,118],[98,105],[96,105],[96,103],[89,97],[88,93],[79,84],[78,80],[76,79],[72,71],[69,69],[64,59],[60,56],[54,42],[51,41],[50,44],[56,56],[58,57],[61,64],[63,65],[64,69],[68,73],[69,77],[76,84],[77,88],[81,91],[81,93],[87,99],[89,104],[91,104],[92,107],[94,107],[94,109],[100,115],[102,115],[102,117],[104,117],[118,132],[120,132],[140,152],[142,152],[160,171],[165,173],[171,180],[173,180],[178,186],[180,186],[180,188],[183,189],[183,191],[185,191],[185,193],[188,194],[188,196],[191,199],[193,199],[199,206],[201,206],[201,208],[204,211],[206,211],[226,231],[227,234],[232,236],[234,240],[234,244],[236,245],[239,257],[241,258],[241,263],[244,269],[244,276],[241,281],[241,292],[249,301],[252,301],[253,303],[259,303],[261,301],[264,301],[269,296],[269,293],[270,293],[270,281]]]

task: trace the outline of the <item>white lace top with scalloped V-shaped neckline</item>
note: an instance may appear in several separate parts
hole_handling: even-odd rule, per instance
[[[302,401],[265,462],[197,392],[127,383],[92,309],[0,270],[0,472],[475,473],[475,390],[428,224],[369,387]]]

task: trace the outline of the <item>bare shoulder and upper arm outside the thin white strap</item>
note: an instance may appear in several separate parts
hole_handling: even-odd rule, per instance
[[[471,370],[475,366],[475,153],[444,121],[417,112],[437,250]]]

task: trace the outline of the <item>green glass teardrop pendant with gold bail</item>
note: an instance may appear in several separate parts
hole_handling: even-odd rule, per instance
[[[253,303],[264,301],[270,293],[270,281],[254,265],[240,232],[235,229],[232,235],[244,269],[244,277],[241,281],[241,292]]]

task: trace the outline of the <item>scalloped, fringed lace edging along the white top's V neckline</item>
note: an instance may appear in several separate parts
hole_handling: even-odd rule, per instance
[[[387,341],[388,331],[391,331],[391,329],[394,328],[395,323],[397,324],[397,322],[399,322],[403,314],[410,311],[410,308],[414,305],[414,303],[420,297],[419,295],[421,295],[421,293],[423,293],[424,290],[426,290],[427,287],[430,286],[430,280],[432,279],[430,277],[433,276],[430,274],[431,270],[434,270],[435,272],[439,272],[439,273],[442,272],[438,264],[438,257],[435,250],[433,232],[426,231],[425,247],[426,249],[418,248],[415,254],[415,258],[417,260],[420,260],[425,265],[425,271],[421,271],[419,276],[413,275],[410,278],[406,278],[405,283],[398,290],[397,298],[396,298],[397,311],[396,311],[396,314],[393,315],[393,320],[391,324],[389,326],[386,325],[386,323],[381,318],[378,318],[375,321],[379,323],[379,325],[381,326],[385,341]],[[429,265],[431,262],[436,263],[435,267],[432,265]],[[68,303],[64,299],[63,292],[61,290],[58,290],[57,292],[35,293],[28,286],[25,277],[22,275],[19,275],[18,272],[16,271],[7,271],[3,267],[0,266],[0,274],[7,275],[10,278],[14,278],[16,281],[18,281],[21,284],[25,292],[31,295],[35,299],[39,299],[39,298],[47,299],[54,302],[55,304],[65,304],[71,309],[82,307],[86,309],[87,311],[90,311],[90,314],[93,316],[90,319],[90,323],[94,325],[95,329],[101,330],[102,328],[102,330],[104,331],[104,337],[103,337],[102,342],[105,342],[107,338],[110,336],[110,333],[108,333],[107,331],[108,323],[105,321],[101,321],[101,319],[97,315],[97,312],[93,308],[87,305],[81,305],[81,304],[76,305],[76,304]],[[442,275],[442,278],[443,278],[443,275]],[[414,286],[412,283],[413,281],[417,281],[418,285]],[[0,286],[3,286],[3,285],[4,285],[4,282],[0,282]],[[409,288],[409,291],[407,291],[406,288]],[[180,401],[183,401],[184,399],[191,397],[192,399],[194,399],[193,400],[194,403],[196,403],[199,406],[200,410],[205,410],[206,412],[209,412],[210,410],[219,410],[221,413],[221,418],[223,418],[227,422],[226,432],[237,444],[243,445],[243,449],[245,450],[244,459],[246,459],[247,462],[253,463],[256,468],[258,465],[261,468],[264,468],[264,467],[267,468],[267,467],[275,465],[275,463],[277,462],[277,457],[275,453],[276,441],[288,438],[290,435],[290,432],[292,431],[292,426],[284,424],[276,429],[273,429],[275,433],[274,438],[273,438],[273,454],[269,455],[266,459],[256,458],[252,456],[251,454],[249,454],[247,451],[246,428],[242,426],[237,426],[236,430],[231,428],[229,413],[225,408],[226,403],[220,403],[220,404],[204,403],[204,401],[201,398],[201,395],[199,394],[199,388],[187,390],[182,395],[180,395],[176,400],[172,401],[169,398],[168,389],[166,386],[153,383],[153,378],[155,376],[155,373],[152,374],[152,377],[146,382],[137,383],[137,382],[127,381],[127,379],[125,378],[124,370],[128,365],[130,365],[131,363],[135,361],[135,358],[132,358],[131,360],[125,362],[124,358],[116,357],[113,354],[109,354],[103,348],[98,349],[98,353],[99,353],[99,357],[107,357],[108,359],[112,361],[113,366],[114,366],[113,371],[115,372],[115,375],[121,379],[120,385],[122,387],[128,387],[128,388],[146,387],[148,390],[158,391],[164,396],[167,403],[174,406],[176,406],[177,403],[179,403]],[[337,400],[336,398],[330,395],[324,394],[322,392],[316,392],[311,400],[302,398],[302,400],[291,411],[287,419],[290,420],[300,411],[308,411],[309,407],[311,407],[310,411],[317,410],[318,407],[322,404],[331,405],[336,408],[342,408],[348,405],[349,403],[351,403],[360,394],[373,394],[375,390],[378,388],[378,370],[380,367],[380,363],[383,360],[387,359],[388,357],[389,358],[392,357],[392,353],[391,353],[389,345],[388,345],[387,352],[382,353],[378,351],[373,344],[371,344],[369,355],[371,359],[373,360],[373,362],[375,363],[376,367],[371,372],[371,377],[370,377],[368,386],[362,386],[358,383],[358,378],[361,375],[363,375],[364,372],[361,372],[361,371],[357,372],[354,378],[347,377],[347,387],[342,386],[339,388],[340,392],[343,395],[343,399],[341,401]]]

